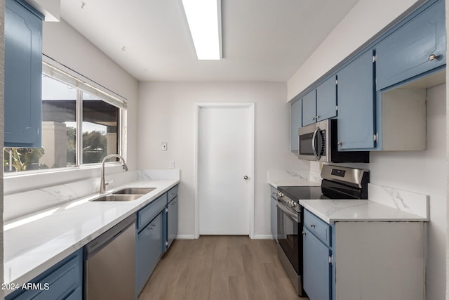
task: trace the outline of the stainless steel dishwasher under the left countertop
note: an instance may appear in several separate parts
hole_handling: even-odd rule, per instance
[[[84,299],[135,299],[135,214],[83,248]]]

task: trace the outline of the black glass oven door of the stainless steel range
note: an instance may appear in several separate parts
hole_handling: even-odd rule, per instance
[[[297,275],[301,275],[300,257],[302,256],[301,221],[297,212],[278,202],[278,242]]]

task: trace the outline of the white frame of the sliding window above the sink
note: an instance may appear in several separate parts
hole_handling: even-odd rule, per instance
[[[119,109],[118,114],[118,126],[117,126],[117,154],[121,155],[124,159],[126,159],[126,155],[124,154],[124,149],[126,145],[126,134],[123,131],[126,131],[126,125],[123,124],[125,119],[127,103],[126,98],[123,98],[119,94],[106,89],[104,86],[97,84],[95,81],[84,77],[78,72],[66,67],[65,65],[61,65],[56,62],[52,58],[43,55],[42,56],[42,74],[51,77],[52,79],[58,80],[63,84],[67,84],[69,86],[73,86],[76,89],[76,139],[75,139],[75,164],[72,167],[60,167],[55,169],[39,169],[39,170],[29,170],[29,171],[19,171],[19,172],[6,172],[4,173],[4,177],[15,177],[15,176],[27,176],[32,174],[45,174],[52,173],[58,171],[68,171],[68,170],[79,170],[79,169],[93,169],[98,168],[101,165],[101,162],[94,162],[89,164],[83,164],[83,145],[82,145],[82,136],[83,136],[83,92],[89,93],[93,96],[98,97],[100,100],[108,103],[109,105],[113,105]],[[10,148],[10,147],[4,147]],[[107,165],[119,164],[119,162],[107,162]]]

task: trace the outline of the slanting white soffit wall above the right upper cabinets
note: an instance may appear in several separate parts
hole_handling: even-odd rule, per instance
[[[288,80],[288,100],[389,25],[417,0],[360,0]]]

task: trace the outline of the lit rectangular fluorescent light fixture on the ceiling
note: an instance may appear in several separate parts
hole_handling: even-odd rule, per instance
[[[199,60],[222,58],[221,0],[182,0]]]

